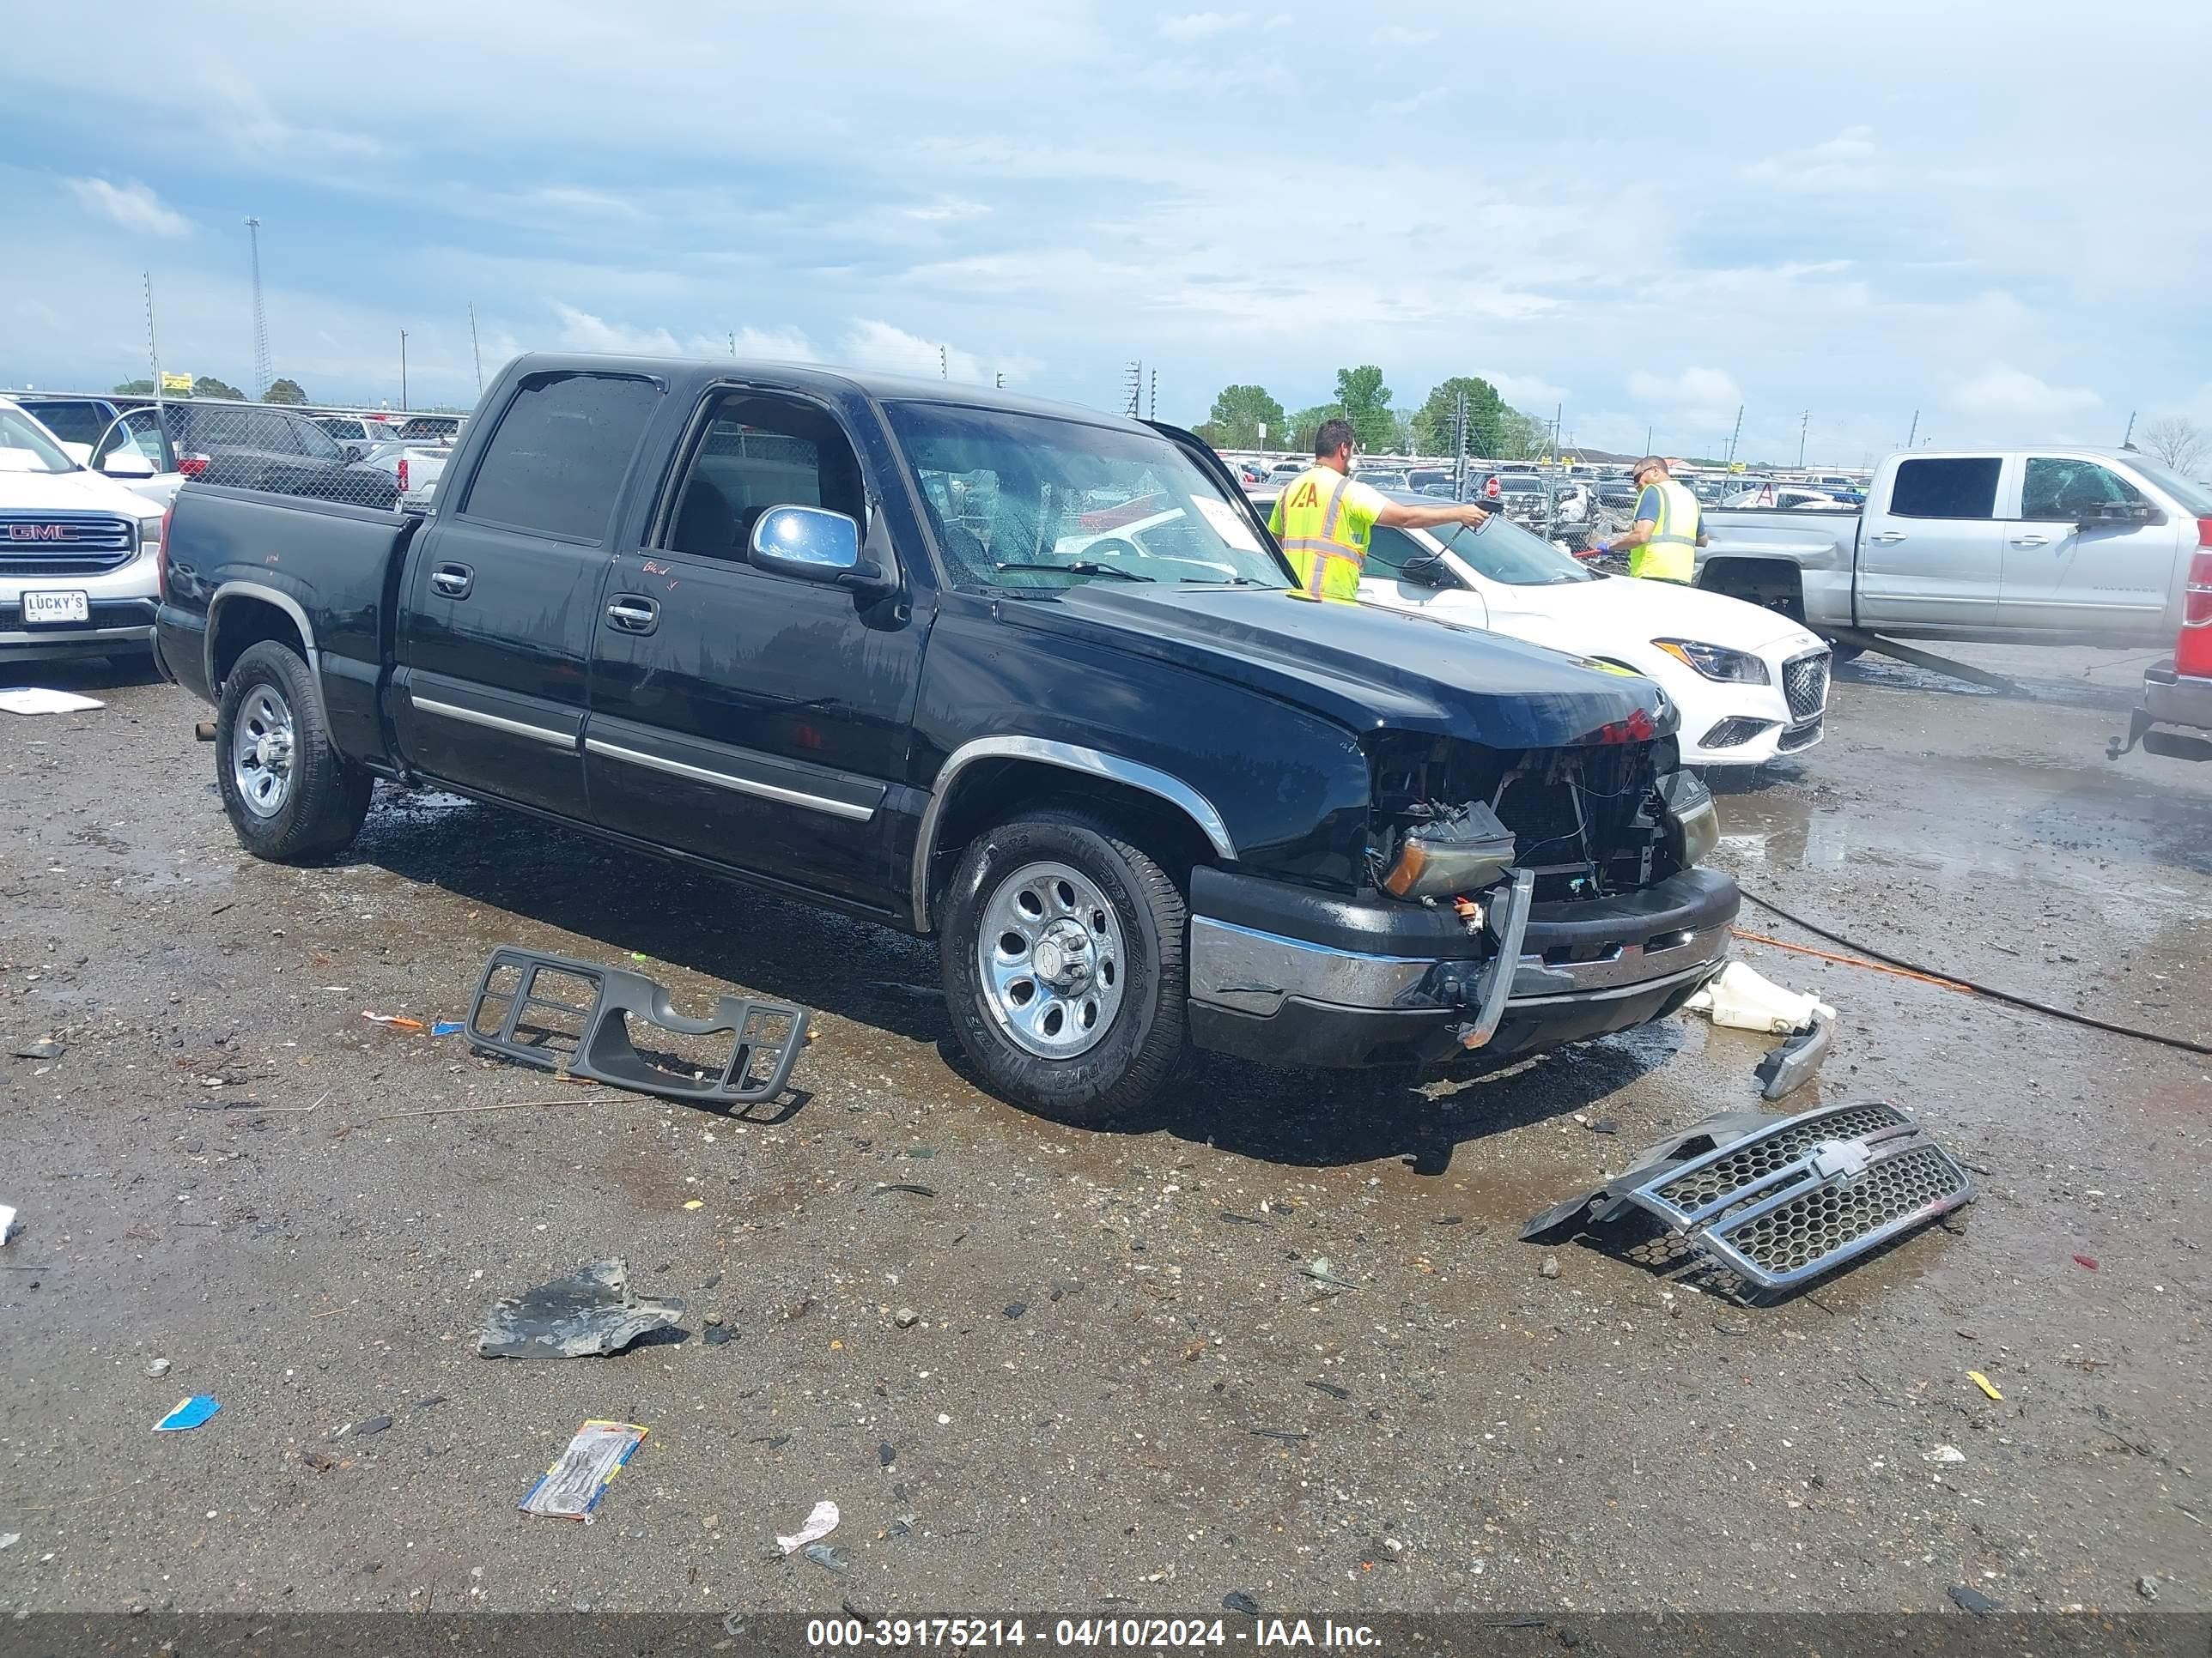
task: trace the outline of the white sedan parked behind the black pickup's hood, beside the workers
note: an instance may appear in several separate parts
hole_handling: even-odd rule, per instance
[[[1480,531],[1376,526],[1360,601],[1632,668],[1681,707],[1688,765],[1761,765],[1820,741],[1827,646],[1776,610],[1604,575],[1493,517]]]

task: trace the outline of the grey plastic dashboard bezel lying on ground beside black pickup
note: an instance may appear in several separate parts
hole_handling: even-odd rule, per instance
[[[633,1021],[641,1035],[653,1026],[677,1037],[730,1032],[730,1052],[712,1070],[681,1059],[661,1063],[630,1041]],[[644,973],[502,944],[476,982],[469,1046],[641,1094],[757,1105],[790,1083],[807,1046],[807,1010],[790,1001],[721,997],[712,1017],[686,1019],[668,990]]]

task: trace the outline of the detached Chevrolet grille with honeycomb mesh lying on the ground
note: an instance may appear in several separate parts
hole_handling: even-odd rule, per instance
[[[1745,1287],[1792,1291],[1971,1203],[1973,1176],[1896,1105],[1798,1116],[1723,1112],[1648,1147],[1637,1167],[1535,1216],[1526,1242],[1566,1242],[1630,1216]]]

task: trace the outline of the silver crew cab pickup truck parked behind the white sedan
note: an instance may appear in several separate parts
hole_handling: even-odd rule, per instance
[[[2212,546],[2212,486],[2135,451],[1916,449],[1882,462],[1858,513],[1703,524],[1701,588],[1829,637],[2166,646]]]

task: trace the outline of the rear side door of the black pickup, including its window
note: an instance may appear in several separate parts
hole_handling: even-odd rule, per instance
[[[599,588],[659,400],[635,374],[533,374],[498,413],[400,577],[389,712],[409,767],[584,816]]]

